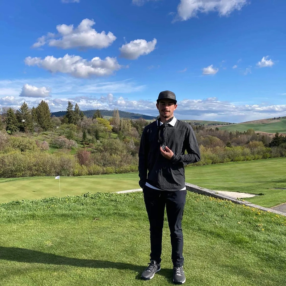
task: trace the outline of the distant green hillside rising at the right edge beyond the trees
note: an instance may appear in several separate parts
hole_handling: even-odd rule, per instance
[[[286,133],[286,116],[276,117],[276,118],[267,118],[260,120],[253,120],[238,124],[217,126],[221,130],[228,131],[247,131],[248,129],[254,129],[255,131],[267,132],[267,133],[276,133],[280,134]]]

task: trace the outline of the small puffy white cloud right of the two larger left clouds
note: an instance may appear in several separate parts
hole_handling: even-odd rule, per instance
[[[154,51],[156,43],[157,39],[155,38],[150,42],[142,39],[131,41],[119,48],[121,51],[120,56],[126,59],[138,59],[140,55],[148,55]]]

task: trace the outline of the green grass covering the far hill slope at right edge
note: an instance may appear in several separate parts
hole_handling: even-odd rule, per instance
[[[286,133],[286,118],[281,118],[280,122],[269,123],[239,123],[220,126],[219,129],[227,131],[247,131],[248,129],[254,129],[255,131],[268,132],[268,133]]]

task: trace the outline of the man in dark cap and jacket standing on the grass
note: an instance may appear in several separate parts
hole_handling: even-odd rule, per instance
[[[151,253],[149,266],[141,278],[149,280],[161,270],[164,210],[170,229],[173,281],[186,281],[183,263],[182,217],[186,202],[184,166],[200,160],[200,150],[192,127],[174,117],[176,96],[160,92],[156,104],[160,118],[143,130],[139,149],[139,185],[150,223]],[[185,154],[187,150],[188,154]],[[148,176],[147,176],[148,170]]]

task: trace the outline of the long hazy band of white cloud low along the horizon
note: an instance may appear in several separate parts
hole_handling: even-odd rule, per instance
[[[29,79],[33,86],[50,86],[53,98],[45,98],[52,112],[66,110],[67,101],[78,103],[81,110],[118,108],[129,112],[136,112],[156,116],[156,98],[153,100],[131,99],[127,93],[134,94],[144,90],[144,86],[136,86],[130,80],[120,82],[102,82],[55,76],[49,79]],[[37,106],[41,98],[19,97],[19,92],[27,79],[5,81],[0,80],[0,94],[3,88],[7,91],[17,90],[17,94],[0,97],[0,107],[11,106],[18,109],[23,101],[29,107]],[[189,96],[188,96],[189,97]],[[227,122],[243,122],[262,118],[279,117],[286,114],[286,105],[241,104],[220,101],[211,97],[206,99],[178,100],[175,116],[178,119],[220,120]]]

